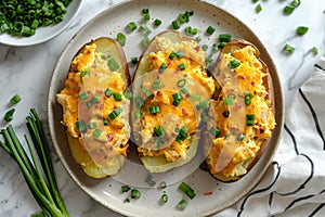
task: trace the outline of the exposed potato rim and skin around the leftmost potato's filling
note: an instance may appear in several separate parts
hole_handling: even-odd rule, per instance
[[[75,54],[75,56],[82,53],[87,46],[90,46],[93,43],[96,44],[95,52],[105,52],[105,51],[109,51],[109,49],[117,50],[117,53],[115,53],[115,54],[116,54],[116,58],[119,58],[119,61],[121,63],[121,68],[119,69],[119,72],[122,73],[121,77],[126,82],[125,89],[128,88],[130,86],[130,74],[129,74],[129,67],[127,64],[127,59],[126,59],[126,55],[125,55],[125,52],[123,52],[121,46],[115,39],[108,38],[108,37],[101,37],[101,38],[91,40],[90,42],[83,44],[78,50],[78,52]],[[74,56],[74,59],[75,59],[75,56]],[[78,72],[77,68],[74,68],[73,64],[72,64],[70,68],[69,68],[69,73],[77,73],[77,72]],[[58,103],[64,105],[65,104],[65,95],[62,93],[57,93],[56,97],[57,97]],[[130,106],[130,104],[129,104],[129,106]],[[129,123],[130,123],[129,116],[128,116],[128,119],[126,119],[125,122],[129,125]],[[66,133],[67,133],[68,144],[70,148],[73,157],[75,158],[76,163],[81,166],[81,168],[88,176],[90,176],[92,178],[104,178],[107,176],[113,176],[113,175],[116,175],[123,166],[123,164],[126,162],[126,156],[123,154],[118,154],[118,155],[114,156],[112,158],[113,165],[109,165],[109,166],[100,165],[100,164],[95,163],[91,158],[88,151],[84,149],[83,144],[81,144],[79,138],[72,137],[68,132],[66,132]],[[126,145],[129,145],[128,143],[129,142],[127,142]],[[87,164],[84,164],[84,162],[87,162]]]

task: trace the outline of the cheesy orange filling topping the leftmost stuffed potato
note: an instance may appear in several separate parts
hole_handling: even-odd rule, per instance
[[[109,66],[109,60],[115,67]],[[68,137],[74,138],[69,141],[79,142],[78,153],[84,151],[89,155],[75,155],[82,167],[112,166],[115,156],[127,156],[130,101],[123,97],[127,84],[117,63],[118,60],[96,52],[95,43],[84,46],[74,58],[65,87],[56,95],[64,110],[62,123]],[[108,90],[112,95],[107,95]],[[121,99],[116,100],[114,94]],[[109,118],[115,110],[119,114]]]

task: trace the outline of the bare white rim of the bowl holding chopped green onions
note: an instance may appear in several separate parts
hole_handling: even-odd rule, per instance
[[[63,22],[58,23],[57,25],[51,25],[47,27],[39,27],[36,30],[36,34],[30,37],[15,37],[9,34],[1,34],[0,35],[0,43],[4,43],[8,46],[34,46],[37,43],[42,43],[48,41],[58,34],[61,34],[68,25],[74,21],[76,15],[78,14],[82,4],[82,0],[74,0],[67,8],[67,13],[64,15]]]

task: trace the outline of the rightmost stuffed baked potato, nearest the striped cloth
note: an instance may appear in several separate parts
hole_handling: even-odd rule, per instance
[[[216,122],[206,125],[205,163],[218,180],[236,181],[259,161],[276,126],[272,78],[259,50],[243,39],[221,50],[212,76],[220,93],[210,101]]]

